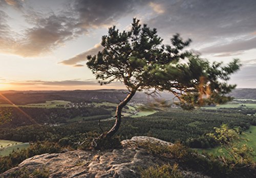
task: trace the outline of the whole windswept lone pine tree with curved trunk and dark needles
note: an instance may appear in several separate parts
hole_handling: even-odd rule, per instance
[[[103,50],[88,56],[87,66],[100,84],[121,81],[126,86],[127,97],[116,109],[115,125],[101,137],[112,137],[121,124],[122,108],[137,91],[169,91],[186,109],[195,106],[225,103],[225,96],[236,85],[227,84],[230,74],[239,70],[238,59],[227,65],[210,63],[199,55],[184,50],[190,39],[174,35],[172,45],[163,45],[157,30],[143,26],[134,18],[132,29],[119,32],[115,26],[102,36]]]

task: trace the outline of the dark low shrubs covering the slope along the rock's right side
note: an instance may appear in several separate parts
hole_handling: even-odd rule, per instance
[[[154,154],[155,157],[162,157],[169,160],[169,164],[179,164],[183,169],[193,170],[209,175],[211,177],[254,177],[256,173],[255,167],[246,164],[232,166],[231,164],[223,164],[213,155],[200,155],[180,143],[172,146],[157,145],[150,142],[139,143],[139,148],[144,148],[148,153]],[[160,169],[165,170],[165,169]],[[165,171],[166,172],[166,171]],[[163,171],[163,175],[166,176]],[[147,170],[146,174],[157,172],[152,169]],[[172,176],[172,174],[170,174]]]

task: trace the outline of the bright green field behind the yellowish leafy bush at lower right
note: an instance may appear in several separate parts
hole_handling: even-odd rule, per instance
[[[251,133],[250,133],[251,131]],[[241,144],[246,143],[248,146],[252,147],[254,149],[254,155],[256,153],[256,126],[250,126],[249,130],[246,130],[243,132],[243,137],[247,139],[248,141],[241,141]],[[215,155],[222,155],[226,154],[227,152],[221,148],[210,148],[210,149],[196,149],[198,152],[207,152],[207,153],[213,153]],[[256,156],[254,156],[254,160],[256,161]]]

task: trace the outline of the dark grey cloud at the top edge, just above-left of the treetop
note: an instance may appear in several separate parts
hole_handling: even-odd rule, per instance
[[[147,4],[143,0],[76,0],[71,7],[79,16],[78,26],[83,29],[112,26],[116,20],[132,13],[139,6]]]

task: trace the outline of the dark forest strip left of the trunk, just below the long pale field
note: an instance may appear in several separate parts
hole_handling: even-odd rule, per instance
[[[3,110],[2,110],[3,109]],[[79,108],[32,108],[32,107],[20,107],[23,112],[20,112],[19,109],[15,107],[0,107],[0,117],[2,116],[1,111],[3,113],[3,119],[10,121],[3,125],[2,127],[16,127],[16,126],[24,126],[31,124],[56,124],[56,123],[66,123],[68,121],[72,121],[75,117],[88,117],[95,116],[99,113],[102,115],[111,115],[110,110],[106,110],[103,108],[96,107],[79,107]],[[28,117],[29,116],[29,117]],[[3,120],[2,119],[2,120]],[[98,120],[97,118],[88,118],[93,120]],[[1,118],[0,118],[1,125]]]

